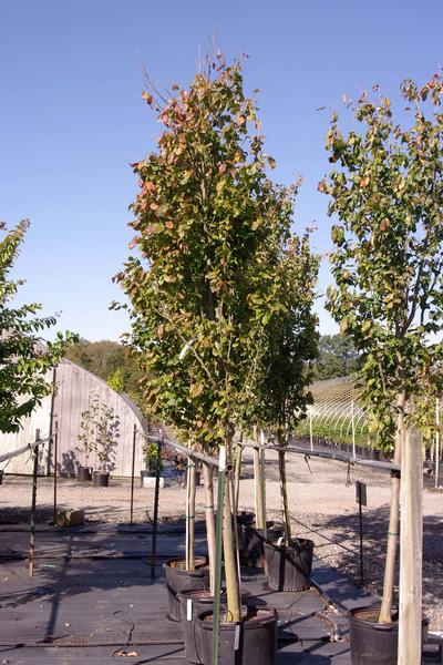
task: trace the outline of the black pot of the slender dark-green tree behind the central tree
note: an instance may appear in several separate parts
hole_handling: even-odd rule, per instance
[[[272,591],[303,591],[311,585],[313,542],[306,539],[292,545],[265,543],[268,585]]]

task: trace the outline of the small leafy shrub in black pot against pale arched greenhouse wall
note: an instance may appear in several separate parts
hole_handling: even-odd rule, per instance
[[[114,409],[104,403],[99,403],[96,413],[95,450],[101,469],[94,471],[93,482],[95,487],[106,488],[110,483],[110,470],[119,442],[120,420],[114,413]]]

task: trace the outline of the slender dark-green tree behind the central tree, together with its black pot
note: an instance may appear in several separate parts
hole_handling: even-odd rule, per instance
[[[278,469],[285,536],[265,543],[268,583],[278,591],[299,591],[311,584],[313,542],[292,538],[288,505],[286,447],[289,429],[306,416],[310,401],[310,361],[317,357],[317,316],[312,314],[319,259],[309,246],[309,233],[292,237],[276,267],[276,299],[267,328],[258,405],[262,424],[277,431]]]

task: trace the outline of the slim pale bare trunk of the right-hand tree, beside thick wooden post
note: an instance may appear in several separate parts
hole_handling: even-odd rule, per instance
[[[399,410],[396,417],[396,431],[394,443],[394,462],[396,464],[400,464],[401,461],[401,450],[404,440],[404,405],[405,395],[401,393],[398,396],[396,400],[396,408]],[[391,508],[389,514],[387,560],[384,565],[383,597],[379,616],[380,623],[392,623],[392,601],[395,582],[396,543],[399,540],[400,473],[393,471],[391,475]]]

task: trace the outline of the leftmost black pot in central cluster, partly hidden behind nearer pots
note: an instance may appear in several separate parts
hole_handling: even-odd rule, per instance
[[[169,559],[163,567],[166,575],[168,618],[181,621],[181,602],[177,594],[181,591],[205,591],[209,587],[209,569],[206,556],[195,557],[195,571],[186,570],[183,559]]]

